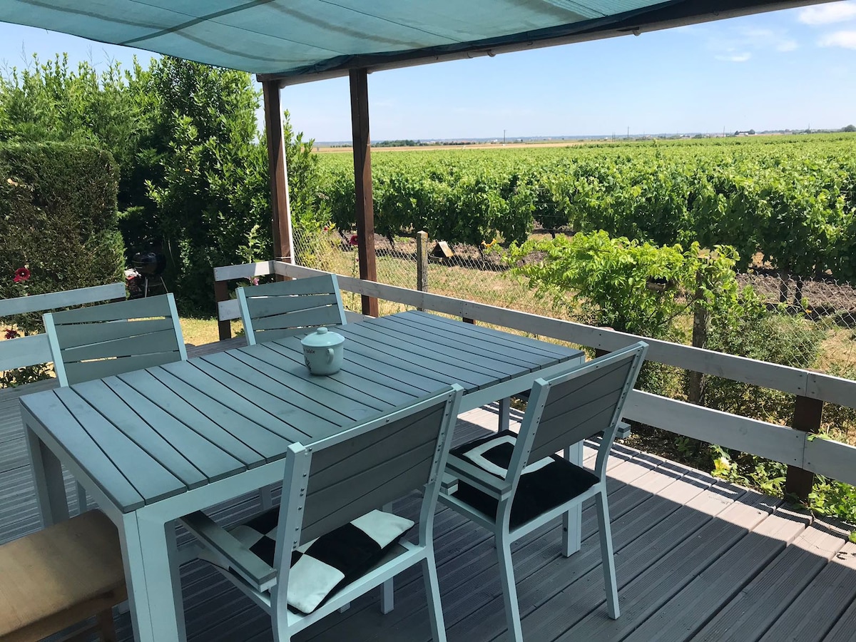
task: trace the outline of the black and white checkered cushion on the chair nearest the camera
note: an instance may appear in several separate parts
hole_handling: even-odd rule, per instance
[[[277,507],[228,530],[244,547],[273,567],[278,525]],[[312,613],[341,586],[357,580],[381,562],[412,526],[412,520],[372,510],[300,545],[291,556],[288,607],[300,613]],[[229,558],[216,551],[205,550],[200,557],[221,568],[230,568]]]

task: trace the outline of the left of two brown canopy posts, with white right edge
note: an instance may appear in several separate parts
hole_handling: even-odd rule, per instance
[[[291,208],[288,205],[288,169],[285,163],[285,141],[282,140],[282,107],[279,102],[279,81],[262,82],[265,98],[265,137],[268,146],[270,173],[271,229],[273,258],[294,263],[291,236]]]

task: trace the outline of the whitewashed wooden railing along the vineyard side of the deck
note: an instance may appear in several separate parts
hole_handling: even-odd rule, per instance
[[[215,268],[221,338],[230,336],[229,320],[240,317],[237,301],[228,298],[227,282],[270,274],[300,278],[317,276],[324,272],[280,261]],[[517,312],[475,301],[361,281],[351,276],[338,276],[338,281],[340,287],[347,292],[605,351],[623,348],[644,339],[650,345],[648,360],[796,395],[798,412],[795,413],[794,423],[805,424],[805,417],[800,419],[800,415],[806,414],[800,413],[800,404],[810,409],[808,414],[811,417],[808,423],[817,424],[817,427],[820,425],[823,402],[856,408],[856,382],[850,379]],[[789,469],[789,476],[794,474],[794,477],[798,477],[799,473],[803,472],[818,473],[847,484],[856,484],[856,448],[829,439],[813,438],[805,425],[771,424],[639,390],[634,390],[627,401],[625,419],[765,459],[781,461],[793,468],[793,473]]]

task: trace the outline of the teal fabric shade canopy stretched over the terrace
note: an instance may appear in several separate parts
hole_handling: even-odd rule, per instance
[[[770,0],[0,0],[0,21],[282,85],[815,4]]]

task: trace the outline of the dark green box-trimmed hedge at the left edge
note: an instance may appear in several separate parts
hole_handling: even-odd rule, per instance
[[[117,183],[95,147],[0,145],[0,298],[121,281]],[[24,266],[30,279],[15,283]]]

